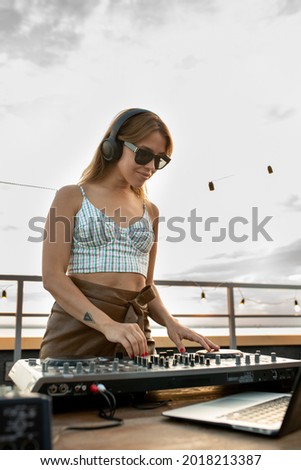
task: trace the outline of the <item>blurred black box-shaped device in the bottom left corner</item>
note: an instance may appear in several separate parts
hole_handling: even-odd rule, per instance
[[[0,450],[51,450],[51,412],[47,395],[0,396]]]

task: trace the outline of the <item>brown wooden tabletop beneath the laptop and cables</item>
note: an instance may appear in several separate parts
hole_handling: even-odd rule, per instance
[[[231,393],[229,386],[200,387],[150,392],[139,408],[130,399],[118,404],[115,416],[123,420],[117,427],[98,430],[68,430],[70,426],[97,426],[98,408],[84,406],[53,415],[54,450],[295,450],[301,449],[301,430],[282,438],[220,429],[208,425],[179,422],[162,416],[162,412],[180,406],[219,398]],[[83,398],[83,400],[86,400]],[[155,403],[162,406],[152,408]]]

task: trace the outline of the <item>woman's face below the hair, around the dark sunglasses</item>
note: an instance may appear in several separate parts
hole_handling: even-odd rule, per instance
[[[154,131],[139,142],[130,142],[135,146],[146,149],[155,155],[163,155],[166,153],[166,139],[159,131]],[[121,158],[118,160],[117,165],[122,172],[123,177],[134,188],[139,188],[149,180],[152,175],[157,171],[155,169],[155,161],[151,160],[145,165],[139,165],[135,162],[135,153],[125,145]]]

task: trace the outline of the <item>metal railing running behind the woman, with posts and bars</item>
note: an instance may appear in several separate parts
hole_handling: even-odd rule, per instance
[[[16,323],[15,323],[15,347],[14,347],[14,362],[21,359],[22,355],[22,319],[24,316],[39,316],[48,317],[49,313],[40,314],[26,314],[23,313],[23,291],[24,282],[42,282],[42,276],[28,276],[28,275],[3,275],[0,274],[0,281],[15,281],[17,282],[17,303],[16,303]],[[254,288],[254,289],[277,289],[277,290],[301,290],[301,285],[296,284],[259,284],[259,283],[243,283],[243,282],[210,282],[210,281],[174,281],[174,280],[156,280],[156,286],[179,286],[179,287],[216,287],[223,288],[227,291],[227,318],[229,326],[229,347],[236,349],[236,318],[235,304],[234,304],[234,289],[240,288]],[[6,315],[2,313],[1,315]],[[181,315],[175,315],[181,316]],[[196,316],[196,315],[194,315]],[[216,317],[215,314],[199,315],[206,317]],[[256,317],[256,315],[248,315],[249,317]],[[294,315],[296,316],[296,315]],[[301,315],[298,315],[301,316]]]

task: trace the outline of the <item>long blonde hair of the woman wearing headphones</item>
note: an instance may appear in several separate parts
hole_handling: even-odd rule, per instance
[[[79,184],[93,182],[96,180],[100,180],[104,177],[106,168],[109,165],[112,165],[112,162],[108,162],[104,159],[102,153],[102,143],[105,139],[109,137],[115,123],[128,111],[131,111],[131,109],[122,111],[112,121],[102,141],[97,147],[93,159],[91,160],[87,168],[83,171]],[[135,143],[139,142],[140,140],[144,139],[155,131],[159,131],[160,134],[166,139],[166,153],[168,155],[171,155],[173,151],[173,141],[169,129],[166,124],[159,118],[159,116],[157,116],[157,114],[155,113],[152,113],[151,111],[136,114],[127,119],[119,129],[116,139],[121,143],[124,141]],[[139,188],[132,187],[131,189],[137,194],[138,197],[143,199],[146,198],[147,195],[145,185]]]

